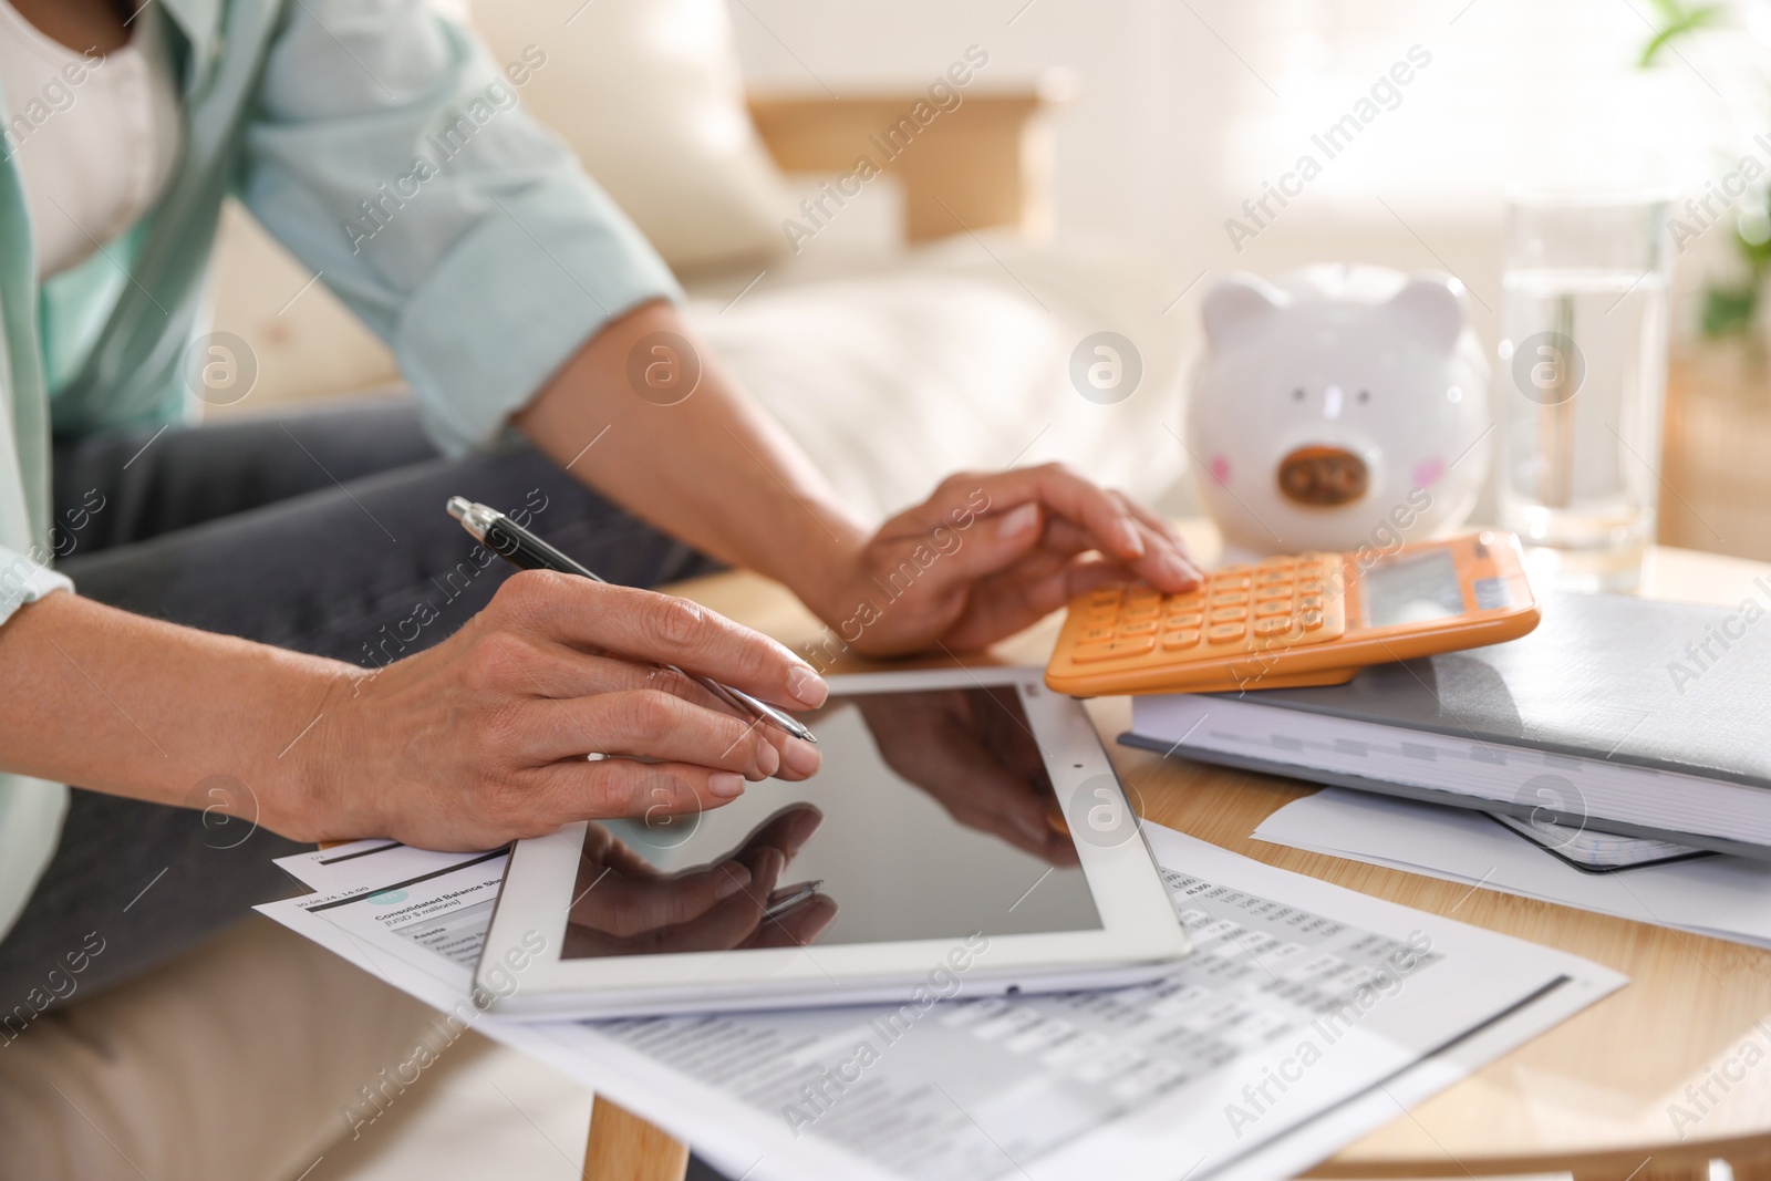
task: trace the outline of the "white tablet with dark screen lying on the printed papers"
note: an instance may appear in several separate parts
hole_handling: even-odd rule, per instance
[[[510,1016],[1132,984],[1188,951],[1082,705],[1041,671],[831,678],[824,768],[519,841],[475,983]]]

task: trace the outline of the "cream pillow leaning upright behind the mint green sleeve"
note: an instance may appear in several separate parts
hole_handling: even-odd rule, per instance
[[[744,106],[724,0],[475,0],[498,62],[547,55],[530,112],[678,271],[781,253],[792,200]]]

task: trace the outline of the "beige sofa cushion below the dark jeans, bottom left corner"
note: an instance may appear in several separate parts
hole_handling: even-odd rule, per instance
[[[200,869],[197,866],[182,869]],[[0,1172],[41,1181],[317,1181],[315,1158],[421,1103],[437,1015],[253,917],[128,984],[39,1016],[0,1050]],[[462,1046],[455,1050],[453,1046]],[[379,1105],[365,1087],[375,1087]],[[434,1170],[425,1176],[436,1176]]]

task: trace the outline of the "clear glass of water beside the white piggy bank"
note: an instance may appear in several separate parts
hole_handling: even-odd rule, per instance
[[[1672,197],[1507,193],[1498,501],[1541,586],[1642,581],[1659,501]]]

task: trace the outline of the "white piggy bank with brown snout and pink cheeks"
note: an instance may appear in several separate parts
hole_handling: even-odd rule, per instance
[[[1396,549],[1463,524],[1488,475],[1488,363],[1463,283],[1318,266],[1204,297],[1187,450],[1226,558]]]

